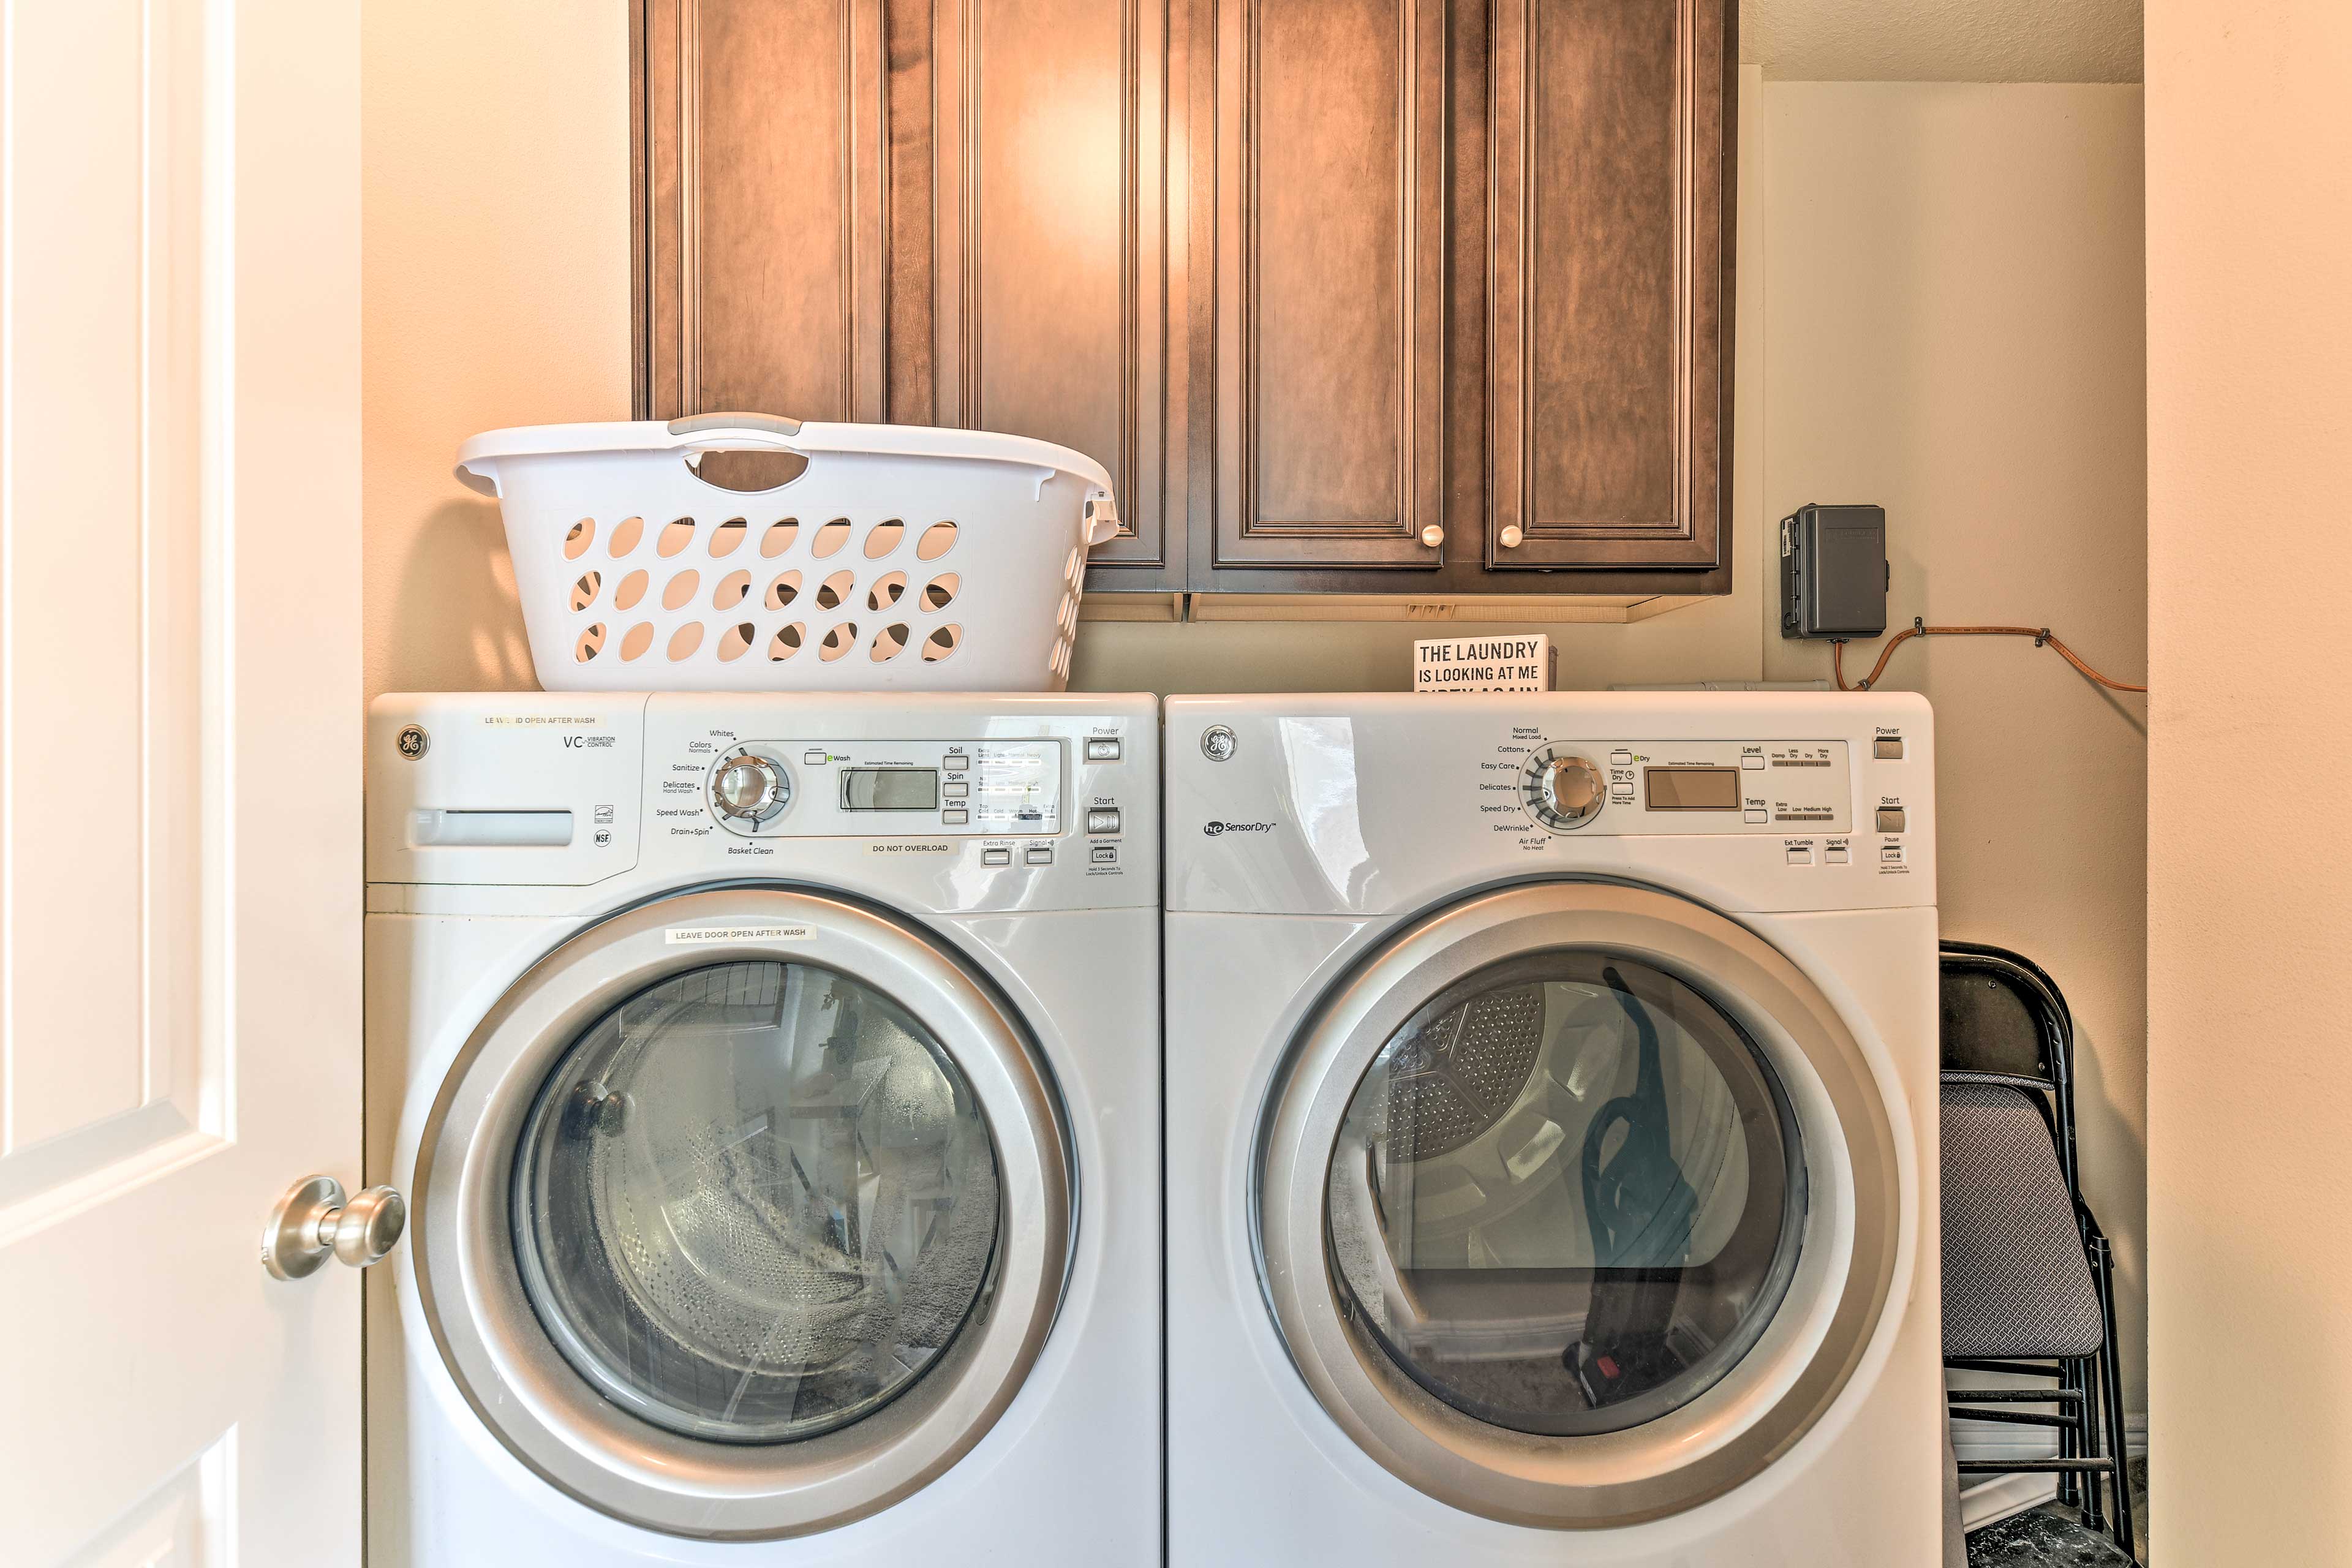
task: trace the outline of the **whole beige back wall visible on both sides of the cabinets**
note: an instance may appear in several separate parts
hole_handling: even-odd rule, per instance
[[[628,414],[623,9],[367,7],[367,684],[529,684],[482,428]],[[1764,85],[1740,205],[1738,592],[1550,628],[1564,686],[1825,675],[1773,632],[1771,534],[1889,505],[1893,611],[2143,661],[2140,148],[2129,87]],[[1091,689],[1402,686],[1409,625],[1089,625]],[[2046,651],[1907,646],[1943,726],[1945,914],[2039,954],[2084,1032],[2091,1192],[2138,1345],[2140,733]],[[2133,1368],[2138,1354],[2131,1354]],[[2138,1399],[2133,1399],[2138,1408]]]

